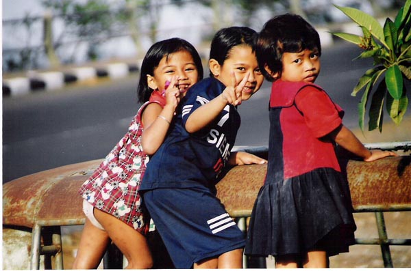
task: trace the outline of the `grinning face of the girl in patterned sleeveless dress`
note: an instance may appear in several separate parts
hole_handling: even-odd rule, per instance
[[[166,89],[166,81],[171,81],[177,76],[176,87],[182,96],[186,95],[189,87],[197,83],[199,72],[192,55],[188,51],[178,51],[164,56],[158,66],[154,69],[153,76],[147,75],[148,85],[151,89]]]

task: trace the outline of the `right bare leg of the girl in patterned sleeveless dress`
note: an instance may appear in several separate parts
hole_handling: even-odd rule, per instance
[[[107,231],[108,236],[126,257],[127,269],[147,269],[153,266],[145,236],[111,214],[98,209],[95,209],[94,214]]]

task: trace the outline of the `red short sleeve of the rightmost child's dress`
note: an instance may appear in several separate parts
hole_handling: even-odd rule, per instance
[[[322,89],[303,87],[295,96],[295,104],[316,138],[324,137],[343,123],[343,110]]]

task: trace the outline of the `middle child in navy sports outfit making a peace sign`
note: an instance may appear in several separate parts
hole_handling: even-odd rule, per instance
[[[231,153],[240,115],[264,77],[253,53],[256,31],[229,27],[216,33],[210,78],[192,86],[182,111],[147,165],[140,191],[176,268],[242,268],[243,233],[216,198],[225,165],[264,163]]]

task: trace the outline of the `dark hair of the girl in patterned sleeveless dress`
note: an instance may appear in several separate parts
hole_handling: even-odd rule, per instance
[[[172,53],[179,51],[187,51],[190,53],[199,74],[198,81],[203,79],[204,72],[201,57],[190,42],[180,38],[171,38],[169,40],[155,42],[155,44],[149,48],[149,51],[147,51],[141,63],[140,80],[138,81],[137,87],[138,102],[147,102],[153,92],[153,89],[147,85],[147,75],[154,75],[154,69],[158,67],[163,57],[169,57]]]

